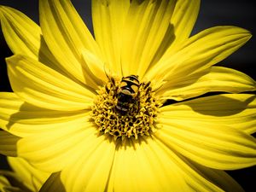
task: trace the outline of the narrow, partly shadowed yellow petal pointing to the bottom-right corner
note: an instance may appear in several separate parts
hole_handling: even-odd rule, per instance
[[[148,143],[149,147],[154,149],[154,154],[150,159],[154,161],[155,158],[160,158],[164,165],[169,161],[172,161],[172,163],[177,166],[177,169],[179,169],[179,172],[185,182],[189,185],[190,190],[188,191],[243,192],[239,184],[224,172],[200,166],[194,161],[187,160],[183,155],[178,154],[173,148],[168,148],[158,139],[154,138],[154,141],[155,143]]]

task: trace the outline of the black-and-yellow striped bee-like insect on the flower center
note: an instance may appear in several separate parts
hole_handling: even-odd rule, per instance
[[[121,114],[129,111],[132,105],[137,102],[138,90],[140,82],[137,75],[123,77],[117,91],[116,108]]]

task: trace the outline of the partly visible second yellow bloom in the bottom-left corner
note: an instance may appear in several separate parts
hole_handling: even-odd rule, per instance
[[[8,161],[14,172],[0,170],[1,192],[37,192],[49,177],[49,173],[35,169],[21,158],[8,157]]]

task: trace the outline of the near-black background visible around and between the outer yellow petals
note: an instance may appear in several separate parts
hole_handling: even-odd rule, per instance
[[[73,0],[72,2],[92,32],[90,0]],[[38,0],[0,0],[0,4],[19,9],[38,23]],[[200,14],[192,33],[201,32],[208,27],[224,25],[240,26],[256,36],[255,3],[252,0],[202,0]],[[218,65],[235,68],[256,79],[256,38],[254,36],[241,49],[218,63]],[[11,91],[4,58],[12,55],[12,53],[4,41],[2,31],[0,32],[0,48],[0,91]],[[8,167],[3,156],[0,156],[0,163],[0,169]],[[254,182],[256,182],[256,166],[230,171],[229,173],[247,192],[256,191],[254,185]]]

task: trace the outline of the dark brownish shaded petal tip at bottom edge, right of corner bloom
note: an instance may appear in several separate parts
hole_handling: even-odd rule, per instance
[[[55,172],[50,175],[47,181],[44,183],[39,192],[67,192],[64,185],[61,183],[61,172]]]

